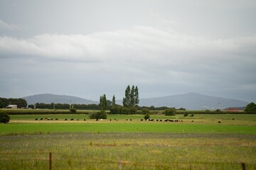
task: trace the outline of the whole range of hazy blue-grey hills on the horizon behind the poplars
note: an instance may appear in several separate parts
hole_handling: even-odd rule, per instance
[[[53,102],[76,104],[99,103],[98,101],[91,101],[85,98],[55,94],[38,94],[34,96],[26,96],[23,98],[28,102],[28,104]],[[118,100],[117,104],[122,105],[122,101]],[[186,108],[187,110],[214,110],[217,108],[244,107],[247,104],[248,102],[246,101],[206,96],[196,93],[164,96],[159,98],[140,98],[139,101],[139,106],[168,106],[175,108]]]

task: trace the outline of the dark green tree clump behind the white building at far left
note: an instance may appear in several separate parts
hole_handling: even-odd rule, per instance
[[[6,108],[9,105],[17,105],[18,108],[26,108],[28,103],[23,98],[0,98],[0,108]]]

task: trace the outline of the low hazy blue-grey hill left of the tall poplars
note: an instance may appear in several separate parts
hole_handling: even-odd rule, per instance
[[[75,96],[65,96],[56,94],[37,94],[33,96],[23,97],[28,104],[35,103],[73,103],[73,104],[93,104],[99,103],[97,101],[90,101],[85,98]]]

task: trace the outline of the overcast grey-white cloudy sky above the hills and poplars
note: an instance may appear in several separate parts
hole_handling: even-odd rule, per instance
[[[255,0],[0,0],[0,96],[256,102],[255,16]]]

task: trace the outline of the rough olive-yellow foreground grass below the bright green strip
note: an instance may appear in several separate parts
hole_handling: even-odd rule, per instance
[[[256,169],[255,135],[65,132],[0,136],[1,169]]]

